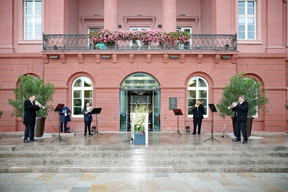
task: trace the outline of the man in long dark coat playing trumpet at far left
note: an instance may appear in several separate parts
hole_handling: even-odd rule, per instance
[[[36,96],[33,94],[30,94],[29,99],[24,102],[24,121],[23,124],[25,124],[25,133],[24,133],[24,142],[29,143],[28,134],[30,130],[30,141],[37,141],[37,139],[34,139],[34,128],[35,128],[35,122],[36,122],[36,111],[39,111],[39,103],[35,100]]]

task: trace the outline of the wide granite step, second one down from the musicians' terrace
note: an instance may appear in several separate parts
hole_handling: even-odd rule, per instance
[[[1,151],[0,158],[288,157],[288,151]]]

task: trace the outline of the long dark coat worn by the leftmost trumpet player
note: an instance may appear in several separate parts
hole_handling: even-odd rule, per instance
[[[24,121],[23,124],[31,124],[35,125],[36,121],[36,111],[39,111],[40,107],[35,105],[35,103],[31,103],[31,101],[28,99],[24,102]]]

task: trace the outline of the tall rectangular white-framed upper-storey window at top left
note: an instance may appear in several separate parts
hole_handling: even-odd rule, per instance
[[[24,4],[24,38],[41,39],[42,7],[41,1],[25,1]]]

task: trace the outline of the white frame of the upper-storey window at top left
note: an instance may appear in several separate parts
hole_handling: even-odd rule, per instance
[[[32,14],[26,14],[26,2],[27,1],[32,1]],[[41,14],[35,14],[35,1],[40,1],[41,2]],[[43,8],[42,8],[42,0],[24,0],[24,40],[41,40],[42,37],[40,37],[39,39],[36,39],[35,38],[35,33],[36,32],[40,32],[42,34],[42,25],[43,25],[43,20],[42,20],[42,11],[43,11]],[[27,38],[26,37],[26,18],[32,18],[32,39],[31,38]],[[41,31],[35,31],[35,19],[36,18],[40,18],[41,19]],[[39,25],[39,24],[37,24]],[[29,31],[31,32],[31,31]],[[41,35],[42,36],[42,35]]]

